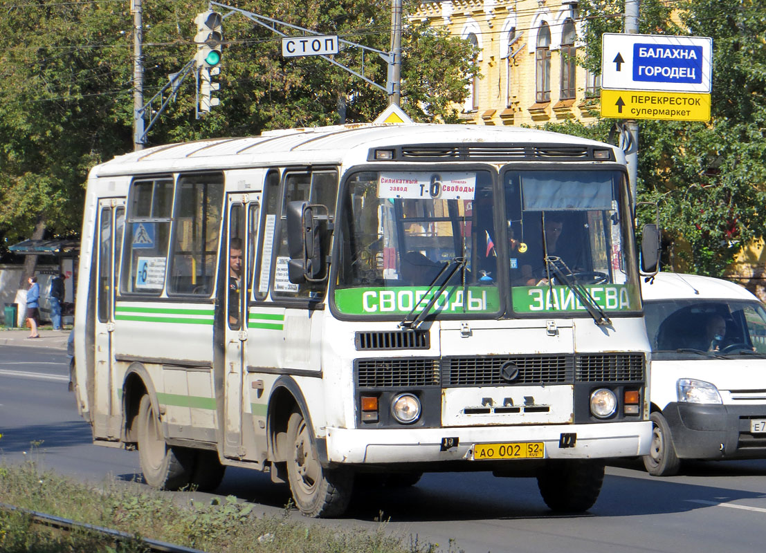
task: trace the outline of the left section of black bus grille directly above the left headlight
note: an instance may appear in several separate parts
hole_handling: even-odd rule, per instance
[[[357,359],[359,388],[390,388],[439,385],[439,359]]]

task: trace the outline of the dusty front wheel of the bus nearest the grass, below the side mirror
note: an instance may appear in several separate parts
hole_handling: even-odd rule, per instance
[[[287,447],[287,480],[300,512],[313,518],[342,515],[351,500],[353,473],[319,464],[311,428],[300,411],[287,421]]]

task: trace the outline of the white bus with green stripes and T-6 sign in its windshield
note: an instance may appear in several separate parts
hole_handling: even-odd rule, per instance
[[[87,182],[78,408],[165,489],[251,467],[339,516],[355,481],[486,470],[588,509],[652,436],[628,190],[614,146],[486,126],[119,156]]]

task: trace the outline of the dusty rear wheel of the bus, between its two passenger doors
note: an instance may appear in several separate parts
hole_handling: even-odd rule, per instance
[[[165,443],[159,417],[148,394],[141,397],[136,424],[141,470],[146,483],[161,490],[178,490],[186,486],[191,478],[194,454]]]

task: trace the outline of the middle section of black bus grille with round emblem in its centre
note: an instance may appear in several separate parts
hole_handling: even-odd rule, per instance
[[[504,379],[502,367],[512,363],[512,379]],[[445,386],[554,384],[572,382],[571,356],[447,357],[442,361]],[[508,376],[508,372],[506,372]]]

